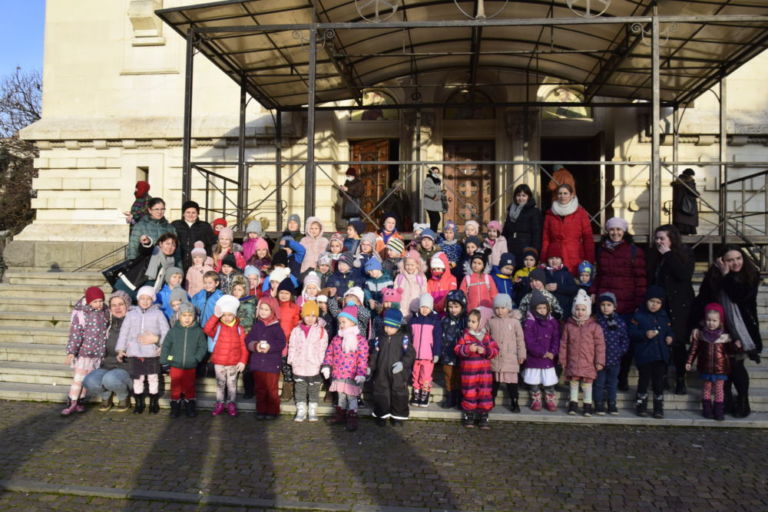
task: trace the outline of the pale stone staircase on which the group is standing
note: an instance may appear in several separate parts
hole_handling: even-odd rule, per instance
[[[5,282],[0,283],[0,399],[63,402],[71,382],[71,370],[64,364],[65,346],[72,305],[82,296],[84,288],[109,286],[98,272],[31,272],[10,270]],[[761,289],[760,316],[763,320],[763,337],[768,339],[768,288]],[[749,363],[751,378],[750,398],[755,413],[747,419],[731,419],[724,422],[704,420],[700,417],[700,381],[695,372],[689,374],[689,393],[686,396],[668,394],[665,397],[667,411],[664,420],[636,418],[632,413],[634,393],[619,393],[620,416],[583,418],[564,413],[567,393],[560,392],[560,410],[555,413],[533,413],[523,408],[521,414],[512,414],[506,405],[505,393],[500,392],[493,412],[496,420],[531,422],[585,422],[607,424],[667,424],[707,426],[768,427],[768,364]],[[432,403],[427,408],[412,408],[411,415],[421,419],[458,420],[457,410],[441,409],[437,402],[442,399],[442,376],[436,372],[436,384]],[[632,374],[631,383],[636,376]],[[167,378],[167,377],[166,377]],[[564,389],[564,388],[563,388]],[[215,382],[213,379],[198,381],[198,399],[203,408],[212,407]],[[521,404],[527,401],[527,393],[521,391]],[[163,407],[167,399],[161,400]],[[253,400],[240,400],[243,411],[254,410]],[[293,403],[284,404],[283,412],[292,413]],[[331,408],[323,405],[321,414],[330,414]]]

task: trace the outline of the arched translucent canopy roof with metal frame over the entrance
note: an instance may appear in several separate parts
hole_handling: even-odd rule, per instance
[[[573,10],[568,7],[573,5]],[[393,13],[391,5],[397,6]],[[439,69],[469,87],[525,71],[582,85],[585,98],[652,98],[652,0],[246,0],[162,9],[179,34],[268,108],[307,104],[317,34],[318,103]],[[380,8],[378,22],[374,6]],[[387,6],[389,10],[387,10]],[[472,16],[484,7],[488,16]],[[462,12],[463,11],[463,12]],[[684,103],[768,47],[765,0],[659,0],[660,96]]]

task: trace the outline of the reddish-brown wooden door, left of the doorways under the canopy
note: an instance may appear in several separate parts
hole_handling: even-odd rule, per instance
[[[386,139],[360,140],[350,142],[350,160],[355,162],[386,162],[389,160],[389,141]],[[389,168],[384,165],[358,165],[358,177],[363,181],[365,193],[363,194],[361,208],[374,221],[378,222],[383,213],[381,208],[371,213],[384,197],[389,186]],[[377,231],[379,226],[363,216],[363,222],[367,231]]]

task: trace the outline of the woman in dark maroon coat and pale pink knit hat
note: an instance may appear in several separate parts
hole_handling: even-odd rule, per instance
[[[599,297],[605,292],[616,296],[616,312],[629,325],[630,317],[638,306],[645,302],[647,277],[645,253],[635,245],[628,231],[627,221],[620,217],[608,219],[605,235],[600,241],[596,255],[597,275],[589,292]],[[629,389],[627,376],[632,365],[632,353],[628,351],[621,359],[619,389]]]

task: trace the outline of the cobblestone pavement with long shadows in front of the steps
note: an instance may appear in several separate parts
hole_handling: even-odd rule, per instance
[[[348,433],[287,416],[62,418],[59,408],[0,401],[0,480],[277,500],[281,510],[768,510],[764,430],[363,420]],[[0,495],[6,509],[237,510],[44,489]]]

